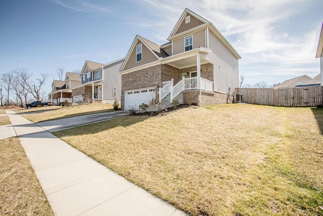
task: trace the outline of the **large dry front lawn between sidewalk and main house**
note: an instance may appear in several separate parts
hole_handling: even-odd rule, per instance
[[[229,104],[56,132],[192,215],[323,215],[323,109]]]

